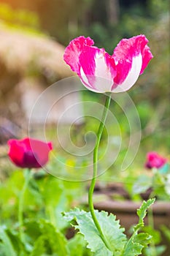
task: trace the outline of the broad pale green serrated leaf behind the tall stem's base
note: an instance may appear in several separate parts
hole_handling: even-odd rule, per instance
[[[105,211],[95,211],[96,217],[104,236],[107,238],[112,252],[107,249],[102,241],[96,226],[93,223],[93,219],[90,212],[81,211],[79,208],[75,208],[72,211],[64,213],[64,218],[72,222],[75,220],[77,224],[72,224],[76,229],[80,230],[80,233],[85,236],[85,241],[88,242],[88,248],[91,252],[94,252],[95,256],[119,256],[126,242],[126,236],[123,233],[124,228],[120,227],[119,221],[115,220],[113,214],[109,214]]]

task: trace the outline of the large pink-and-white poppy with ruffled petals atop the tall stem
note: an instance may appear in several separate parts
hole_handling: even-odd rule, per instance
[[[93,46],[90,37],[81,36],[69,43],[63,59],[90,91],[127,91],[152,59],[147,42],[144,35],[122,39],[110,56],[104,48]]]

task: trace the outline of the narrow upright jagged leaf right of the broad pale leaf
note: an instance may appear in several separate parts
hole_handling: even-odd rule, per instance
[[[151,241],[151,236],[147,233],[138,234],[141,227],[144,226],[144,217],[147,214],[147,208],[155,202],[155,198],[143,201],[142,206],[137,209],[137,215],[139,216],[139,222],[134,226],[134,233],[128,242],[125,244],[125,248],[122,256],[137,256],[142,254],[142,249],[147,246]]]

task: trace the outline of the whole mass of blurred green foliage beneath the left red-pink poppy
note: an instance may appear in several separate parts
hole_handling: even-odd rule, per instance
[[[68,222],[61,211],[68,211],[83,192],[82,184],[61,181],[43,170],[34,173],[24,195],[24,242],[18,232],[18,199],[23,187],[21,170],[11,173],[0,184],[1,256],[91,255],[81,236],[65,237]],[[5,224],[5,225],[3,225]],[[72,251],[73,249],[73,251]]]

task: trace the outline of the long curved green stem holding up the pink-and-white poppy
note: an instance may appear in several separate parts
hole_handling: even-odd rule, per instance
[[[98,147],[100,144],[101,135],[104,130],[104,124],[107,119],[107,113],[109,110],[110,101],[111,101],[111,94],[109,94],[109,96],[107,97],[105,105],[104,105],[104,112],[103,112],[103,116],[101,118],[100,126],[98,128],[98,133],[97,133],[96,146],[93,151],[93,178],[91,180],[90,189],[88,191],[88,204],[89,204],[89,208],[90,208],[91,217],[93,219],[94,224],[96,225],[96,228],[98,230],[98,233],[101,236],[101,239],[104,241],[104,244],[107,246],[107,248],[112,251],[112,249],[110,249],[107,238],[105,238],[104,233],[101,230],[101,226],[98,223],[98,219],[96,218],[96,214],[95,214],[94,206],[93,206],[93,191],[94,191],[94,187],[96,184],[97,167],[98,167]]]

